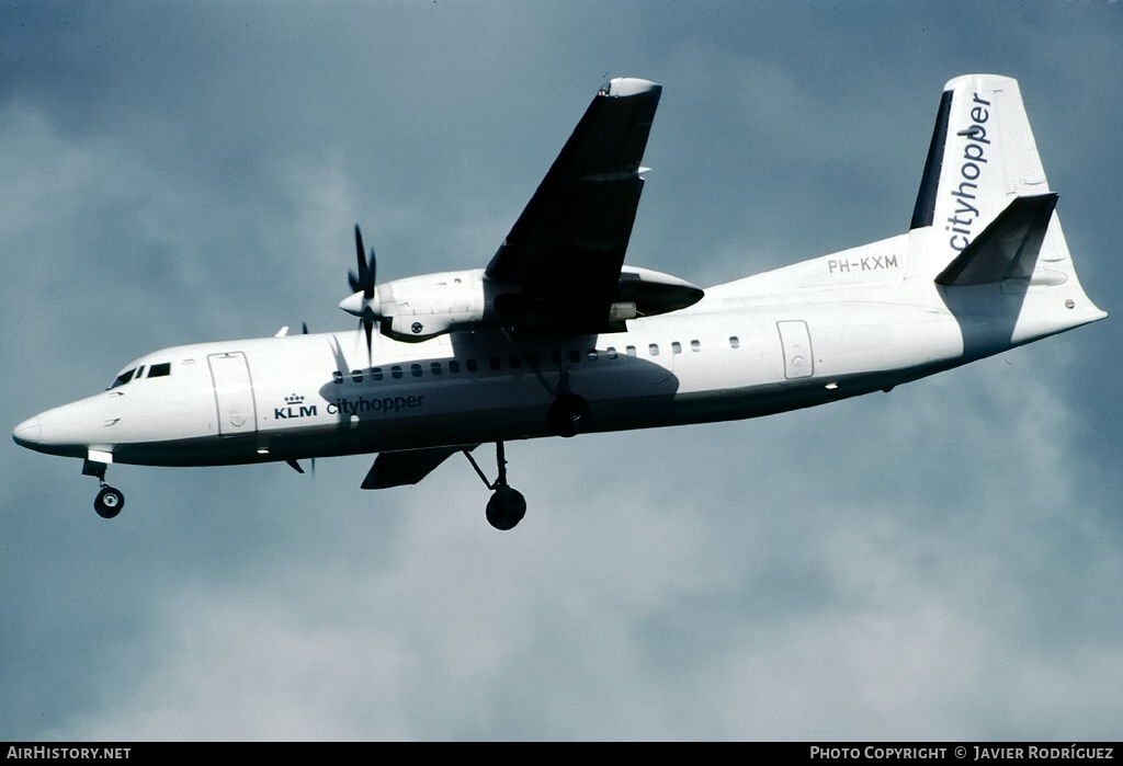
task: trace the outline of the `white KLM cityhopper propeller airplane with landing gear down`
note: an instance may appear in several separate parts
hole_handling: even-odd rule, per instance
[[[504,444],[759,417],[894,387],[1105,319],[1085,294],[1017,82],[947,83],[905,233],[705,290],[623,264],[661,86],[602,85],[485,268],[378,283],[355,227],[353,330],[199,343],[17,425],[83,461],[222,465],[378,453],[362,482],[463,453],[511,529]],[[374,333],[374,329],[378,333]],[[490,481],[472,451],[495,444]]]

